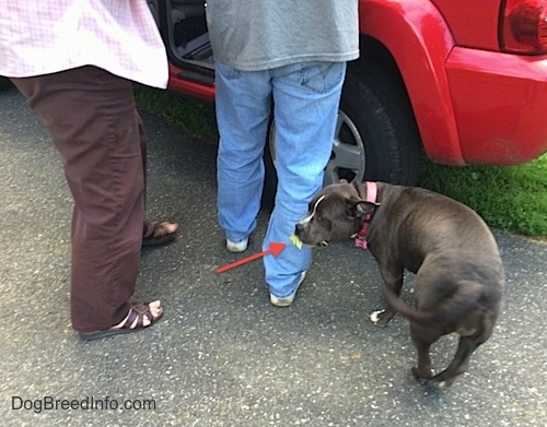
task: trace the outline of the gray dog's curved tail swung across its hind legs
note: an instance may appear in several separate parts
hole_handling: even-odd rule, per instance
[[[384,294],[394,310],[412,321],[418,323],[433,321],[455,323],[462,315],[477,307],[482,295],[482,286],[472,281],[459,283],[459,286],[453,289],[452,295],[447,295],[443,303],[431,310],[420,310],[408,306],[393,289],[384,288]]]

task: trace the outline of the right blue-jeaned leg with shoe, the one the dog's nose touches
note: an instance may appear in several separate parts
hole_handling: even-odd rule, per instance
[[[307,203],[323,185],[330,157],[346,64],[299,63],[272,71],[278,188],[264,240],[284,242],[278,257],[265,257],[266,283],[275,305],[292,303],[312,263],[309,247],[289,237],[307,213]],[[286,304],[288,303],[288,304]]]

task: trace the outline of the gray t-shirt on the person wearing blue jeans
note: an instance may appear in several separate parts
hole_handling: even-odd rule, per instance
[[[212,51],[242,71],[359,57],[358,0],[208,0]]]

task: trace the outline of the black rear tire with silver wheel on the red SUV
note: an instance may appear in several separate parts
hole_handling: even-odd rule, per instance
[[[263,207],[271,209],[277,188],[275,121],[266,145]],[[348,68],[324,185],[342,178],[414,185],[420,146],[403,84],[373,62]]]

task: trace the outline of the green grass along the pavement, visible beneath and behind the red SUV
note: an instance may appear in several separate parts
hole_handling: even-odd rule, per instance
[[[136,87],[136,98],[139,108],[190,134],[218,140],[210,106],[143,86]],[[547,154],[520,166],[450,167],[423,159],[418,185],[467,204],[492,228],[547,238]]]

